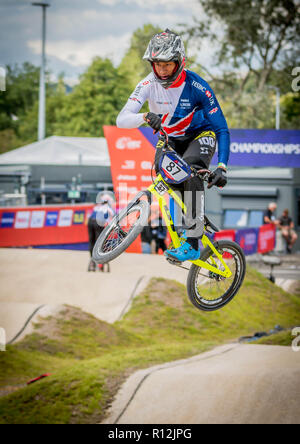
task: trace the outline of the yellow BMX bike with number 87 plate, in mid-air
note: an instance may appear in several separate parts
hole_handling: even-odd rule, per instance
[[[185,241],[184,230],[176,229],[164,198],[168,193],[186,215],[187,208],[170,184],[182,183],[195,175],[208,182],[213,173],[209,170],[199,170],[189,166],[169,145],[167,133],[161,129],[159,148],[162,150],[159,173],[147,190],[139,192],[126,208],[114,217],[112,222],[98,237],[93,249],[93,259],[98,264],[105,264],[122,254],[138,237],[148,224],[152,196],[159,207],[170,233],[172,247],[178,248]],[[200,258],[191,262],[190,268],[183,267],[181,262],[167,258],[172,265],[186,268],[187,293],[192,304],[204,311],[213,311],[228,304],[240,289],[246,272],[245,255],[241,247],[230,240],[212,242],[208,235],[219,231],[204,218],[203,234],[199,238],[203,245]],[[188,227],[185,227],[188,229]],[[171,246],[169,246],[170,248]]]

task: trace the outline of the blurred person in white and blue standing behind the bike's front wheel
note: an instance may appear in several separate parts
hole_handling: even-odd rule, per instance
[[[100,203],[95,205],[93,212],[88,220],[88,232],[89,232],[89,251],[90,262],[88,271],[96,271],[96,263],[92,258],[93,248],[96,240],[106,227],[110,223],[114,216],[114,211],[110,206],[109,196],[103,195],[100,198]]]

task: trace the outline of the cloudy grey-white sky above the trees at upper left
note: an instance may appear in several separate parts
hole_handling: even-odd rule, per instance
[[[37,1],[38,0],[32,0]],[[198,0],[48,0],[47,68],[74,85],[96,56],[117,66],[132,33],[146,23],[176,27],[203,17]],[[41,63],[42,8],[30,0],[0,0],[0,66]],[[207,53],[207,48],[206,48]],[[209,64],[209,61],[208,61]]]

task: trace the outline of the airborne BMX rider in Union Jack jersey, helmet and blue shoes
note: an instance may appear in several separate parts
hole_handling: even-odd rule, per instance
[[[152,72],[129,97],[117,118],[117,126],[138,128],[147,122],[154,132],[162,126],[172,148],[197,169],[209,168],[218,143],[218,165],[208,188],[213,185],[224,187],[230,147],[226,119],[208,83],[198,74],[185,69],[185,49],[181,37],[169,29],[156,34],[150,40],[143,58],[150,62]],[[146,101],[150,112],[140,113]],[[162,145],[162,140],[159,140],[155,156],[156,172],[159,170]],[[187,211],[189,220],[195,223],[199,217],[197,197],[199,193],[204,193],[202,179],[191,177],[183,185],[172,185],[172,188],[191,195]],[[190,230],[194,226],[190,226]],[[166,250],[164,254],[180,262],[199,259],[199,234],[190,236],[190,230],[183,245]]]

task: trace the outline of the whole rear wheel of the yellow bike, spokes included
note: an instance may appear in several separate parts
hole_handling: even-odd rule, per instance
[[[191,266],[187,279],[188,296],[195,307],[204,311],[218,310],[228,304],[240,289],[246,273],[245,255],[238,244],[220,240],[214,243],[214,247],[221,253],[232,275],[225,278],[197,265]],[[203,250],[200,260],[224,270],[224,265],[210,247]]]

